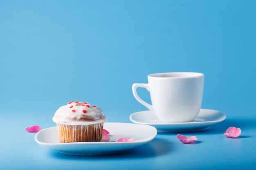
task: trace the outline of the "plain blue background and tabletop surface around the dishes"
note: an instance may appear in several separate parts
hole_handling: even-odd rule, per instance
[[[24,168],[205,169],[255,166],[256,1],[253,0],[1,0],[0,164]],[[101,107],[109,122],[147,110],[133,83],[147,75],[205,75],[202,108],[227,115],[209,130],[159,134],[137,150],[107,157],[72,157],[46,150],[25,128],[55,126],[70,101]],[[141,97],[150,101],[146,90]],[[242,137],[228,139],[229,126]],[[217,140],[217,141],[215,141]],[[241,168],[241,167],[240,167]]]

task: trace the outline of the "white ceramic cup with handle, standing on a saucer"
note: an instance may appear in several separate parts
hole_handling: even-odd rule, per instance
[[[152,105],[142,100],[137,88],[146,88]],[[163,123],[190,122],[201,109],[204,74],[192,72],[156,73],[148,75],[148,84],[132,84],[132,93]]]

